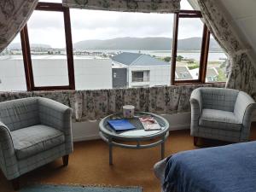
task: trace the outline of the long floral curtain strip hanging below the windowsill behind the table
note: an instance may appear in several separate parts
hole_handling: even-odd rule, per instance
[[[43,96],[73,108],[73,119],[84,121],[101,119],[108,114],[119,113],[125,104],[134,105],[137,111],[159,114],[189,112],[191,92],[202,86],[224,87],[224,83],[112,90],[0,92],[0,102]]]

